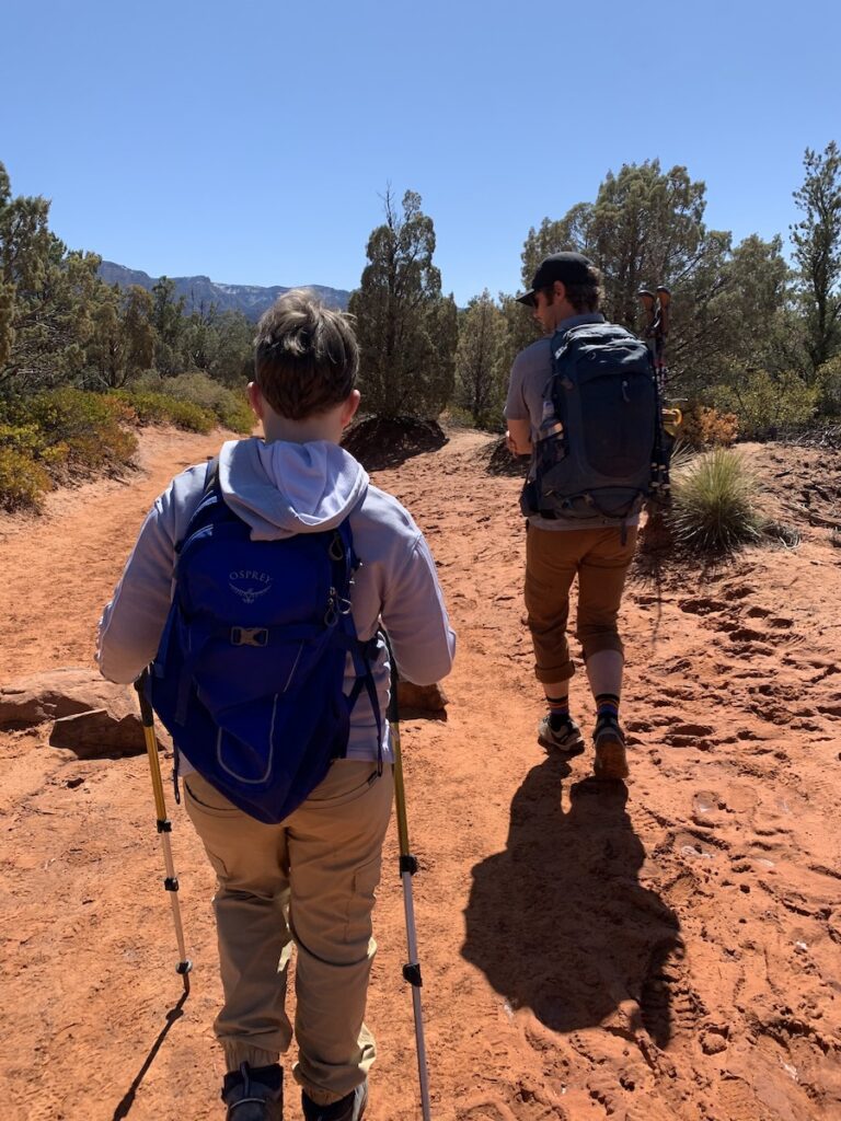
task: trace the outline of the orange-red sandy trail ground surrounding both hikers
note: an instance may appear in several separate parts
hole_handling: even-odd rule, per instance
[[[3,680],[90,663],[146,508],[215,443],[147,434],[129,485],[0,522]],[[403,735],[435,1118],[841,1118],[837,550],[813,531],[659,596],[632,584],[632,778],[598,790],[586,756],[535,740],[518,483],[484,473],[486,444],[454,434],[376,480],[426,531],[460,637],[449,719]],[[573,697],[586,716],[583,676]],[[181,982],[145,761],[81,762],[34,733],[0,750],[3,1119],[220,1118],[212,877],[190,823],[174,815],[196,969],[167,1025]],[[408,1121],[396,872],[377,930],[369,1115]]]

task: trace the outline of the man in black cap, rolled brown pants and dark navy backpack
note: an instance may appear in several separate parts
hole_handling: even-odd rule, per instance
[[[660,406],[648,349],[599,311],[600,275],[581,253],[547,257],[518,297],[544,337],[511,368],[507,445],[530,455],[525,602],[547,712],[540,743],[583,750],[570,712],[574,666],[566,627],[577,578],[575,633],[595,702],[594,773],[628,776],[619,722],[625,665],[617,617],[645,499],[667,488]]]

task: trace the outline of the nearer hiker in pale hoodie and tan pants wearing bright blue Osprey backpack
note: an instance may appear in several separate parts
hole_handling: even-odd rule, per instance
[[[408,512],[339,442],[360,401],[348,316],[308,293],[264,315],[252,408],[264,438],[225,443],[156,500],[113,599],[105,677],[153,663],[187,813],[216,874],[229,1121],[279,1121],[293,1027],[306,1121],[359,1121],[375,889],[392,797],[389,663],[428,685],[454,636]]]

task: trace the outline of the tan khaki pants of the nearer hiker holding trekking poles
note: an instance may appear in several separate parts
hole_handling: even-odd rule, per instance
[[[233,806],[198,773],[187,813],[216,873],[213,907],[224,1003],[215,1020],[229,1071],[276,1063],[292,1041],[285,1011],[292,943],[297,1082],[320,1105],[366,1077],[375,1040],[363,1022],[391,767],[341,759],[280,825]]]

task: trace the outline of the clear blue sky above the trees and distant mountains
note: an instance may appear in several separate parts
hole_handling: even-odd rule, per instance
[[[841,141],[835,0],[4,0],[0,161],[74,249],[153,276],[358,285],[390,183],[459,304],[529,226],[658,157],[708,224],[787,237]]]

